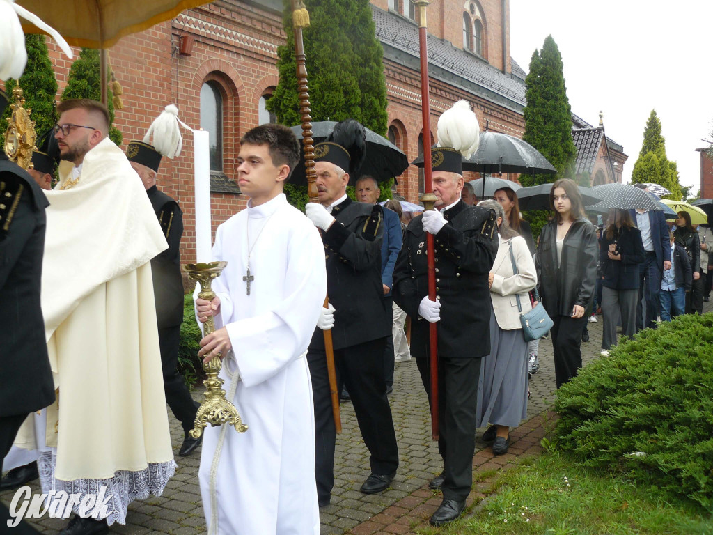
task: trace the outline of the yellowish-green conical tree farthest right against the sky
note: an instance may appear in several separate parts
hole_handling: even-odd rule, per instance
[[[661,133],[661,121],[656,115],[656,110],[651,111],[646,121],[644,142],[639,158],[634,164],[631,181],[635,184],[642,182],[660,184],[671,192],[671,195],[666,195],[667,198],[682,199],[677,164],[669,161],[666,156],[666,140]]]

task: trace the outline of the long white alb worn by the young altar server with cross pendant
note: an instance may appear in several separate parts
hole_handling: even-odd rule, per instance
[[[204,431],[199,477],[208,533],[319,535],[304,355],[327,292],[322,240],[281,193],[220,225],[212,260],[227,260],[212,283],[220,297],[215,327],[227,327],[232,344],[220,377],[248,429]]]

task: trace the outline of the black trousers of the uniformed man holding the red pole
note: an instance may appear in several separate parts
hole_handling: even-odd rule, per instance
[[[431,404],[429,359],[416,359]],[[443,459],[443,499],[463,501],[473,484],[480,358],[438,359],[438,453]]]

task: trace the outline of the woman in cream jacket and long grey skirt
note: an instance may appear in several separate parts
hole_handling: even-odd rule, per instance
[[[528,292],[537,284],[537,275],[528,245],[509,228],[503,207],[494,200],[483,200],[478,206],[495,210],[500,246],[489,276],[491,354],[481,362],[476,424],[493,424],[483,433],[483,441],[493,442],[493,454],[501,455],[508,452],[510,427],[518,427],[527,415],[528,344],[520,325],[517,296],[523,312],[532,309]]]

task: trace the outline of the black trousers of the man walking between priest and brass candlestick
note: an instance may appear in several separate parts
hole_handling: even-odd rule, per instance
[[[173,415],[183,426],[183,431],[188,433],[193,429],[195,413],[198,412],[198,404],[190,397],[190,391],[185,385],[183,377],[178,373],[179,342],[180,326],[158,330],[166,402]]]

